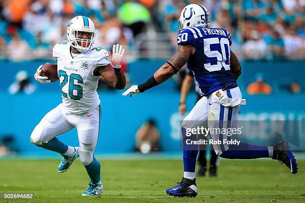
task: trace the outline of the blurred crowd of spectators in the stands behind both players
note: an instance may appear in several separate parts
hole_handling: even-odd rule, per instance
[[[232,34],[232,49],[250,60],[305,59],[305,0],[1,0],[0,57],[12,61],[51,57],[66,39],[67,22],[89,16],[99,31],[96,45],[127,53],[141,32],[165,32],[176,46],[177,19],[188,3],[211,13],[211,27]]]

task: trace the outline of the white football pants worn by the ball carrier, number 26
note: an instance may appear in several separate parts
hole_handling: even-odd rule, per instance
[[[79,156],[83,165],[93,161],[93,153],[99,137],[100,106],[85,114],[68,112],[62,103],[49,111],[35,127],[31,142],[47,143],[55,136],[76,127],[79,140]]]

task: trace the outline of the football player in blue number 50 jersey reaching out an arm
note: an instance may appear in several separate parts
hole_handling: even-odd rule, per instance
[[[176,53],[153,76],[141,85],[134,85],[123,96],[143,93],[176,74],[187,63],[199,83],[203,98],[199,100],[181,124],[182,139],[186,129],[207,125],[222,128],[224,121],[235,127],[240,105],[245,105],[236,80],[241,74],[240,63],[231,51],[231,34],[221,28],[209,28],[208,10],[201,4],[189,4],[183,8],[178,20]],[[204,106],[204,103],[205,106]],[[207,109],[207,110],[205,110]],[[192,121],[192,122],[191,122]],[[195,122],[194,122],[195,121]],[[235,122],[234,122],[235,121]],[[207,124],[205,123],[207,122]],[[196,124],[195,124],[196,123]],[[221,126],[223,125],[223,126]],[[219,133],[219,132],[218,132]],[[230,140],[227,134],[211,133],[212,140]],[[257,146],[247,143],[214,144],[217,155],[228,159],[256,159],[270,157],[286,164],[293,174],[298,172],[296,160],[287,141],[275,146]],[[166,193],[175,197],[196,197],[195,165],[198,149],[183,146],[184,174],[178,186]]]

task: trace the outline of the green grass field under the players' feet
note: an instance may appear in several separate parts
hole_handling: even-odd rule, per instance
[[[68,172],[59,160],[0,160],[0,193],[34,193],[37,203],[296,203],[305,202],[305,160],[299,173],[273,160],[221,160],[217,178],[198,178],[196,198],[173,198],[165,189],[179,181],[182,160],[101,160],[104,192],[81,197],[89,179],[79,160]],[[0,200],[0,202],[5,202]]]

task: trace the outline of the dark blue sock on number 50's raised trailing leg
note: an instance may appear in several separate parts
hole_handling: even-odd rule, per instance
[[[239,143],[231,145],[227,151],[220,155],[226,159],[257,159],[269,157],[268,147]]]

